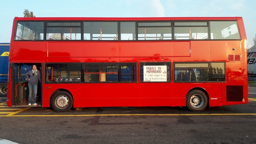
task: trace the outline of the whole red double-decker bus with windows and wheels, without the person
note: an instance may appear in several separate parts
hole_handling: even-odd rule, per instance
[[[37,106],[57,112],[248,103],[241,17],[16,17],[9,60],[8,106],[28,106],[22,73],[33,64]]]

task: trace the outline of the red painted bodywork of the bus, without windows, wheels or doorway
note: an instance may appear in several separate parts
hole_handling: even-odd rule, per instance
[[[210,106],[248,103],[247,40],[240,17],[185,18],[15,18],[17,20],[237,20],[242,40],[196,41],[14,41],[10,44],[10,63],[42,63],[42,106],[50,107],[50,98],[58,89],[68,90],[74,107],[108,106],[186,106],[186,95],[202,88]],[[236,48],[236,50],[232,50]],[[228,55],[241,55],[241,61],[229,61]],[[226,62],[226,82],[74,83],[50,84],[44,81],[45,63],[60,62]],[[139,64],[138,64],[139,68]],[[137,72],[138,73],[138,72]],[[10,70],[10,75],[12,72]],[[11,80],[11,79],[9,79]],[[227,102],[226,86],[244,86],[244,102]],[[11,84],[8,84],[10,91]],[[8,93],[8,106],[12,106]]]

